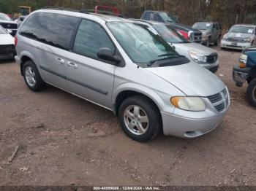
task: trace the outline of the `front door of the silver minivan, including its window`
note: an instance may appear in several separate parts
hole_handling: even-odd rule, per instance
[[[78,28],[67,62],[69,91],[102,106],[112,108],[115,67],[98,58],[97,52],[108,47],[113,53],[116,47],[98,23],[82,20]]]

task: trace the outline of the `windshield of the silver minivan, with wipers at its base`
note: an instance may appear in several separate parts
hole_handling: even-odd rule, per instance
[[[177,59],[184,58],[154,28],[128,22],[110,22],[107,25],[129,58],[139,66],[155,66],[157,61],[165,62],[165,66],[173,66],[177,65]],[[173,58],[176,58],[175,63],[172,62]]]

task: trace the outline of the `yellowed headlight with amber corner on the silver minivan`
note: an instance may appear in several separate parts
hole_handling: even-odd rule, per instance
[[[170,98],[170,103],[179,109],[191,111],[191,112],[202,112],[206,110],[206,104],[200,97],[183,97],[176,96]]]

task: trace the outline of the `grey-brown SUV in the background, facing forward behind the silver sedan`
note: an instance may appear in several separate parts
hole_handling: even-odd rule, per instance
[[[202,32],[203,44],[208,47],[210,43],[219,46],[219,42],[222,36],[222,26],[217,22],[201,22],[195,23],[193,28]]]

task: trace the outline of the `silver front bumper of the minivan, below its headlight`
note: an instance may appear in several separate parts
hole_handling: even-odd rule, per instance
[[[222,123],[226,113],[227,110],[225,112],[220,112],[215,117],[193,119],[161,112],[163,131],[167,136],[195,138],[217,128]]]

